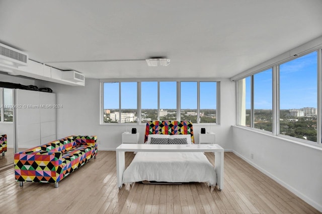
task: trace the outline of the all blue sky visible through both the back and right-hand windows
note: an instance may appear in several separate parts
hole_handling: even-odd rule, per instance
[[[251,107],[246,78],[246,109]],[[136,82],[121,82],[121,109],[136,109]],[[177,108],[177,83],[160,82],[160,109]],[[254,109],[272,109],[272,69],[254,75]],[[119,83],[104,83],[104,109],[119,109]],[[232,97],[233,98],[233,97]],[[280,109],[317,107],[317,52],[280,65]],[[157,82],[141,82],[141,109],[157,109]],[[181,109],[197,109],[197,82],[181,82]],[[200,82],[200,109],[216,109],[216,83]]]

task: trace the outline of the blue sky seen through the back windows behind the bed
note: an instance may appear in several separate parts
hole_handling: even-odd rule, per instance
[[[177,82],[160,82],[160,109],[177,109]],[[136,82],[121,82],[121,109],[136,109]],[[104,83],[104,109],[119,108],[119,83]],[[157,109],[157,82],[141,82],[141,109]],[[181,82],[181,109],[197,109],[197,82]],[[200,109],[216,109],[216,83],[200,82]]]

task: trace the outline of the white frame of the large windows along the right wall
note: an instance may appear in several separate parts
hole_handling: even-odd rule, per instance
[[[316,81],[317,81],[317,97],[316,97],[316,101],[317,101],[317,141],[314,142],[314,141],[309,141],[309,140],[304,140],[304,139],[300,139],[300,138],[296,138],[296,137],[291,137],[291,136],[287,136],[287,135],[282,135],[280,134],[280,65],[281,64],[284,64],[284,63],[287,63],[287,62],[290,62],[294,59],[297,59],[299,57],[302,57],[302,56],[305,56],[307,54],[310,54],[312,52],[317,52],[317,70],[316,70],[316,75],[317,75],[317,78],[316,78]],[[254,117],[254,81],[253,81],[253,78],[254,78],[254,75],[257,74],[257,73],[260,73],[262,71],[265,71],[267,69],[272,69],[272,92],[273,92],[273,100],[272,100],[272,103],[273,103],[273,106],[272,106],[272,132],[268,132],[268,131],[265,131],[265,130],[260,130],[260,129],[257,129],[257,128],[254,128],[254,124],[253,124],[253,117]],[[241,79],[244,79],[244,78],[247,78],[247,77],[251,77],[251,122],[252,122],[252,125],[251,127],[247,127],[247,126],[243,126],[243,125],[239,125],[239,119],[238,119],[238,114],[239,114],[239,104],[238,104],[238,80],[241,80]],[[238,127],[243,127],[243,128],[246,128],[246,129],[250,129],[250,130],[253,130],[253,131],[256,131],[256,132],[263,132],[265,134],[269,134],[269,135],[272,135],[272,136],[276,136],[276,137],[280,137],[282,139],[288,139],[292,142],[300,142],[300,143],[304,143],[305,145],[313,145],[313,146],[319,146],[319,147],[322,147],[322,48],[319,47],[319,48],[314,48],[314,49],[309,49],[309,50],[306,50],[306,51],[303,51],[302,53],[300,54],[295,54],[291,57],[288,57],[287,59],[284,59],[284,60],[280,60],[276,63],[273,63],[269,66],[265,66],[265,67],[262,67],[260,69],[257,69],[256,71],[253,71],[251,73],[249,73],[248,75],[244,75],[244,76],[240,76],[238,78],[235,78],[235,79],[232,79],[235,81],[235,91],[236,91],[236,126]]]

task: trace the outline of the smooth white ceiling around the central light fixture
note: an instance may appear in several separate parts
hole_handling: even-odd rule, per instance
[[[321,0],[0,1],[0,43],[87,78],[229,78],[322,35]],[[167,57],[166,67],[144,59]]]

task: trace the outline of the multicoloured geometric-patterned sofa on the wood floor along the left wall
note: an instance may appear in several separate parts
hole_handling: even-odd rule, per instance
[[[15,154],[15,178],[24,181],[58,182],[97,155],[96,136],[69,136]]]

